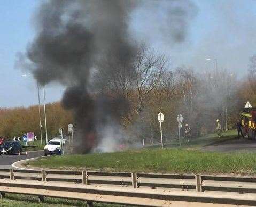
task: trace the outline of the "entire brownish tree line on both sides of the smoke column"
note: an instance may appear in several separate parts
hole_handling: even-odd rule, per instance
[[[102,64],[97,65],[94,77],[100,90],[128,100],[129,112],[120,122],[126,134],[132,134],[134,139],[146,142],[159,139],[159,112],[165,114],[164,138],[172,139],[177,135],[179,113],[196,137],[214,131],[216,119],[221,120],[223,130],[234,128],[245,103],[250,101],[256,106],[256,55],[249,60],[247,76],[241,77],[223,68],[198,71],[181,66],[170,69],[166,55],[145,43],[137,47],[138,52],[126,65],[115,60],[100,61]],[[106,67],[114,70],[104,70]],[[49,136],[58,135],[60,127],[67,131],[68,123],[73,122],[72,112],[64,110],[60,102],[47,104],[46,109]],[[44,124],[42,130],[45,137]],[[17,137],[27,131],[40,135],[37,105],[0,109],[0,136]]]

